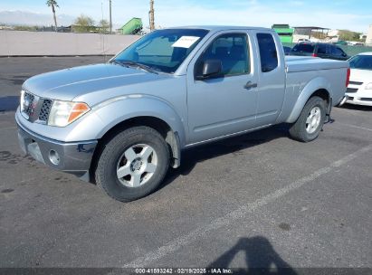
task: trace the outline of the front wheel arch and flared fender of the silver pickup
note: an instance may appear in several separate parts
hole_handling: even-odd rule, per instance
[[[157,130],[169,146],[171,166],[180,166],[186,129],[176,110],[166,101],[147,96],[126,98],[102,104],[93,111],[105,128],[100,128],[95,133],[99,142],[92,157],[91,173],[94,172],[105,142],[119,131],[135,126],[147,126]]]

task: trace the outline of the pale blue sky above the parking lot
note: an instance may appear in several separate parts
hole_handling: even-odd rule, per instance
[[[0,11],[50,14],[45,0],[0,0]],[[86,14],[96,21],[109,17],[109,0],[57,0],[57,14]],[[114,24],[131,17],[148,25],[149,0],[112,0]],[[270,27],[272,24],[315,25],[367,32],[372,0],[155,0],[156,25],[230,24]],[[52,24],[52,19],[51,19]]]

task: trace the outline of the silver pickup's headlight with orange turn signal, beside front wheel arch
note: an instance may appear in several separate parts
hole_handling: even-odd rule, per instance
[[[65,127],[89,111],[89,106],[83,102],[54,100],[48,125]]]

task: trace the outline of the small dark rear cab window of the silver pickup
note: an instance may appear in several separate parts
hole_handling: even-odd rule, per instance
[[[258,46],[260,48],[261,70],[268,72],[278,67],[278,54],[272,34],[257,33]]]

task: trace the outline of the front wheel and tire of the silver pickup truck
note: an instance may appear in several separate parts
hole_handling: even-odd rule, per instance
[[[133,127],[104,145],[95,179],[110,197],[129,202],[156,190],[168,166],[169,150],[164,138],[153,128]]]

